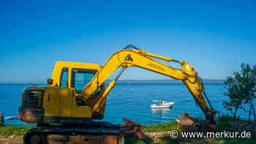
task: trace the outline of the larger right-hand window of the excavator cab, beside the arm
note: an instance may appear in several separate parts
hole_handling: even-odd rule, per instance
[[[83,87],[91,81],[96,72],[93,69],[72,69],[72,88],[75,88],[76,93],[82,92]]]

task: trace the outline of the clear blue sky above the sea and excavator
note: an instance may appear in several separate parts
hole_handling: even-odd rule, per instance
[[[56,61],[104,64],[128,44],[188,61],[203,78],[224,79],[242,62],[255,64],[255,6],[255,1],[6,0],[0,6],[0,81],[45,81]],[[167,77],[131,68],[121,79]]]

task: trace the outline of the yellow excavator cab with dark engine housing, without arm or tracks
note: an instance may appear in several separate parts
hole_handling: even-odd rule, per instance
[[[83,124],[92,119],[102,119],[105,103],[97,112],[91,107],[105,91],[105,83],[89,99],[81,94],[99,69],[99,64],[57,61],[48,86],[23,90],[20,120],[37,124]]]

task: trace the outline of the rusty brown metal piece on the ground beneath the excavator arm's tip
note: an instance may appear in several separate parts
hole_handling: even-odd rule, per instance
[[[209,121],[200,121],[198,118],[193,118],[188,113],[182,113],[182,117],[178,115],[181,120],[176,119],[178,125],[180,126],[181,130],[184,132],[189,131],[215,131],[217,130],[216,124],[210,124]]]

